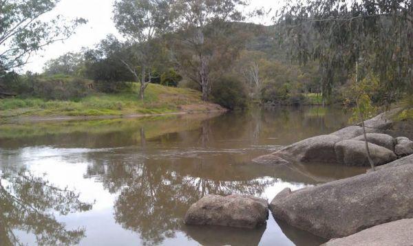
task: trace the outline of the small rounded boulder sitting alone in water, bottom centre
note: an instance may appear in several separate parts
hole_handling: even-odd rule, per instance
[[[268,219],[268,202],[241,194],[227,197],[209,194],[191,205],[184,218],[187,225],[224,225],[255,228]]]

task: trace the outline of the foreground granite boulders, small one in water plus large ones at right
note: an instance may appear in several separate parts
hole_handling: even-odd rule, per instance
[[[413,155],[409,155],[376,172],[296,191],[286,188],[269,204],[248,195],[207,195],[191,205],[184,223],[262,228],[269,208],[277,221],[334,238],[325,245],[409,245],[412,177]]]

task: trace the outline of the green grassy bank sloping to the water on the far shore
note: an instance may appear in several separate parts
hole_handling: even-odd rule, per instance
[[[145,99],[138,99],[137,85],[131,91],[107,94],[93,93],[76,101],[40,98],[8,98],[0,100],[0,118],[24,116],[96,116],[159,114],[180,111],[180,106],[204,104],[198,91],[151,84]]]

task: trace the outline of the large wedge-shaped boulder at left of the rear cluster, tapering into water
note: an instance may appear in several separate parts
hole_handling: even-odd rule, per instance
[[[335,162],[334,146],[341,141],[335,135],[320,135],[304,139],[279,150],[276,154],[302,162]]]

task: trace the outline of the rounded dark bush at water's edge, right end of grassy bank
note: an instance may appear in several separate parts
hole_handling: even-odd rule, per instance
[[[246,87],[237,76],[223,76],[213,85],[213,101],[227,109],[244,109],[248,105]]]

